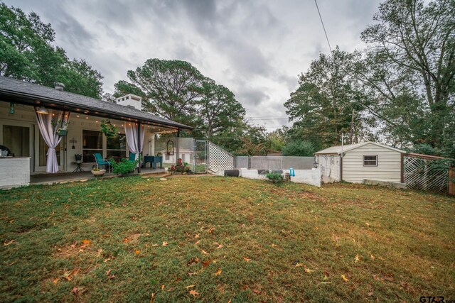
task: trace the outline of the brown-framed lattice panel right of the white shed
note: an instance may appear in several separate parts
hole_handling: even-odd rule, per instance
[[[447,170],[435,168],[434,160],[405,157],[405,183],[407,188],[428,192],[447,192]]]

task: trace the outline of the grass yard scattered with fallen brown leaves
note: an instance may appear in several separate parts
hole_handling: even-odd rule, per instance
[[[455,199],[125,177],[0,192],[0,301],[455,299]]]

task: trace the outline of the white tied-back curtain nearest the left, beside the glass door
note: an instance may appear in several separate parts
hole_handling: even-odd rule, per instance
[[[65,111],[51,111],[50,109],[48,109],[48,113],[49,114],[36,113],[36,121],[38,122],[41,136],[46,145],[48,145],[45,172],[55,173],[58,172],[58,161],[55,148],[62,140],[62,137],[57,134],[57,124],[59,121],[60,123],[61,121],[68,123],[68,121],[70,121],[70,113]]]

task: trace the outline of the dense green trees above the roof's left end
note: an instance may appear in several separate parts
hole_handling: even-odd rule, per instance
[[[102,75],[85,60],[68,60],[52,45],[55,32],[36,13],[0,2],[0,75],[53,87],[63,82],[68,92],[100,98]]]

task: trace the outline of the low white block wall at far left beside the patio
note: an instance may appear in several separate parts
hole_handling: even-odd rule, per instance
[[[0,159],[0,188],[30,184],[30,157]]]

